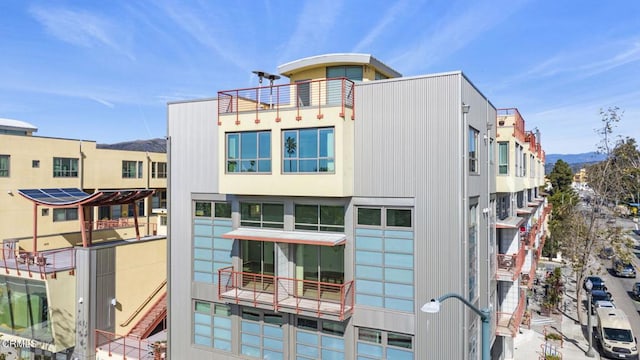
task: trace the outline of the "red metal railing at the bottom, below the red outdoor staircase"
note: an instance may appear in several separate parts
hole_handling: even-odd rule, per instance
[[[154,346],[151,341],[112,332],[95,331],[96,357],[101,351],[109,357],[121,356],[122,359],[154,359]]]

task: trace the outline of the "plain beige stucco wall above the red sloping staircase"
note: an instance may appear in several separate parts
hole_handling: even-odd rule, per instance
[[[126,334],[166,291],[163,288],[128,325],[122,324],[167,280],[166,239],[132,242],[116,248],[116,334]]]

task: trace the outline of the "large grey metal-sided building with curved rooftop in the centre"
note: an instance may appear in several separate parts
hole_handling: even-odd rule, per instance
[[[499,309],[494,106],[364,54],[278,72],[168,105],[171,358],[477,359],[472,309],[420,308]]]

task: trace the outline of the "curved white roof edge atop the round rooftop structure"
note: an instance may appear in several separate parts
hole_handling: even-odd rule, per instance
[[[340,53],[340,54],[324,54],[311,56],[299,60],[294,60],[286,64],[278,66],[278,72],[284,76],[290,76],[292,73],[309,67],[331,64],[361,64],[371,65],[378,69],[381,73],[389,77],[401,77],[402,74],[393,70],[382,61],[374,58],[370,54],[356,53]]]

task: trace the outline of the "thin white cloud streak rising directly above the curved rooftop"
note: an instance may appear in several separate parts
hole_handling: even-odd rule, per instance
[[[301,54],[315,55],[333,34],[330,30],[333,29],[336,19],[340,18],[342,1],[305,1],[304,4],[296,21],[296,28],[282,48],[280,64]]]

